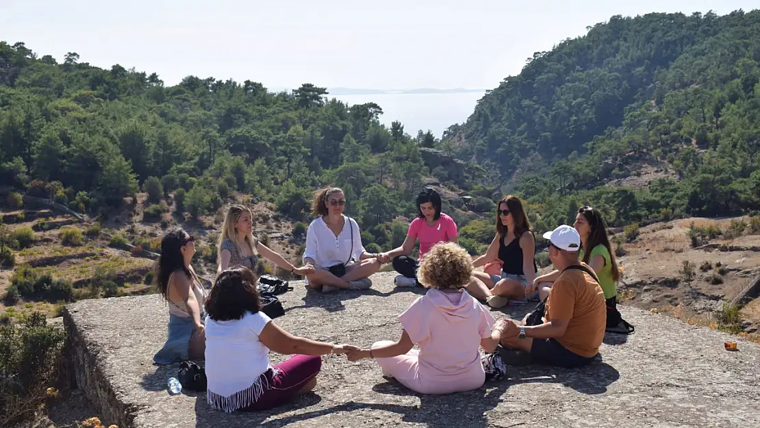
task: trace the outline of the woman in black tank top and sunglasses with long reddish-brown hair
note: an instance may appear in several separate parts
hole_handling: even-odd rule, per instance
[[[501,275],[473,271],[467,291],[486,300],[492,308],[500,308],[509,300],[527,300],[534,293],[527,290],[533,284],[538,266],[535,259],[536,239],[530,230],[530,222],[516,196],[509,195],[499,201],[496,210],[496,236],[486,250],[473,261],[477,268],[499,259]]]

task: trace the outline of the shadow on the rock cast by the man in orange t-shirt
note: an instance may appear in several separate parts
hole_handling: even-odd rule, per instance
[[[562,369],[554,366],[510,366],[509,383],[556,382],[583,394],[603,394],[607,387],[620,378],[620,373],[610,364],[591,363],[578,369]]]

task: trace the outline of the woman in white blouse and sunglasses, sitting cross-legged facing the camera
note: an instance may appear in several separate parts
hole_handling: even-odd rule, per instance
[[[304,268],[315,268],[306,275],[306,284],[322,293],[338,288],[366,290],[372,287],[369,275],[380,268],[376,254],[366,252],[361,230],[353,218],[343,215],[346,197],[337,187],[314,194],[312,214],[317,217],[306,230]]]

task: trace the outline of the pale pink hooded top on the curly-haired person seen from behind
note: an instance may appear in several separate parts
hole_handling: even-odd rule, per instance
[[[491,337],[495,321],[467,291],[444,293],[431,288],[398,320],[420,347],[417,376],[435,382],[485,379],[480,340]]]

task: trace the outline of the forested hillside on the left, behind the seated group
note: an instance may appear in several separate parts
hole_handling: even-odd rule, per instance
[[[152,217],[175,207],[192,218],[238,191],[308,220],[312,192],[340,185],[347,212],[364,230],[379,227],[367,240],[390,246],[386,223],[416,213],[413,196],[430,174],[419,148],[434,138],[381,125],[381,114],[314,84],[274,93],[188,76],[169,87],[155,73],[97,68],[75,52],[59,63],[0,42],[2,183],[90,214],[123,211],[142,190]],[[483,210],[492,207],[486,199]]]

